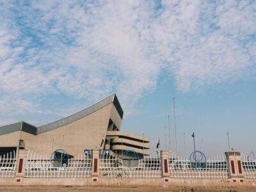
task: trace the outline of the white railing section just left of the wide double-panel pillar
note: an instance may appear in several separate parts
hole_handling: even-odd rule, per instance
[[[176,154],[170,154],[170,177],[177,178],[228,178],[227,160],[224,156],[217,156],[202,164],[191,164]]]

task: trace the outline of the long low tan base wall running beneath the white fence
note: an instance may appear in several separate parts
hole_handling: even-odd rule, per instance
[[[256,179],[173,178],[13,178],[0,179],[0,186],[256,186]]]

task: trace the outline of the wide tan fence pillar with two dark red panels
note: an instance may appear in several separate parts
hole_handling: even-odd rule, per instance
[[[243,178],[244,170],[240,152],[225,152],[230,178]]]

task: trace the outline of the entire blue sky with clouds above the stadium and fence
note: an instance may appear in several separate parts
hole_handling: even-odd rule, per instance
[[[44,125],[116,92],[122,131],[152,150],[160,138],[188,157],[195,132],[214,157],[228,132],[256,154],[255,18],[255,1],[0,0],[0,125]]]

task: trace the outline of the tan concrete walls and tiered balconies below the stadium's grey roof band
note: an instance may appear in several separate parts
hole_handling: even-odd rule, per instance
[[[62,148],[72,156],[77,156],[83,153],[84,149],[100,148],[102,138],[106,138],[108,132],[109,119],[116,125],[118,130],[121,128],[122,118],[115,108],[113,102],[104,106],[103,108],[84,116],[79,120],[71,122],[70,124],[63,125],[51,131],[43,132],[37,135],[30,134],[24,131],[15,131],[8,134],[0,135],[0,147],[17,147],[19,140],[24,140],[25,149],[32,150],[33,152],[45,157],[50,157],[54,150]],[[132,141],[124,139],[127,143],[136,145],[139,147],[145,146],[145,149],[149,148],[149,138],[138,136],[136,134],[130,134],[121,131],[111,131],[114,136],[130,136],[131,138],[137,138],[145,140],[145,143],[141,141]],[[102,136],[103,135],[103,136]],[[107,148],[110,148],[110,139],[108,138]],[[118,139],[118,138],[117,138]],[[118,148],[118,145],[111,148],[113,150],[128,150],[126,148]],[[104,146],[102,146],[103,148]],[[117,147],[117,148],[116,148]],[[131,148],[130,148],[131,149]],[[138,153],[144,151],[138,148],[132,148]],[[145,154],[149,154],[148,150],[145,150]]]

